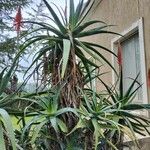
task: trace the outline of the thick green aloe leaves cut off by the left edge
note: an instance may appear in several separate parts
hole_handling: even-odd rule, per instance
[[[14,62],[15,63],[15,62]],[[3,69],[0,73],[0,103],[2,104],[3,101],[9,99],[9,96],[3,96],[3,92],[5,91],[8,82],[11,78],[11,75],[14,71],[15,65],[11,66],[11,68],[6,72],[6,68]],[[15,142],[15,135],[11,123],[11,118],[7,111],[3,108],[0,108],[0,148],[5,150],[6,145],[9,147],[9,144],[6,144],[6,139],[4,137],[8,137],[13,150],[16,150],[16,142]]]

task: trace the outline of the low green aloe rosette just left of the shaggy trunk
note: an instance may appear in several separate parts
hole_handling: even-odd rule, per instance
[[[34,145],[40,136],[49,142],[48,149],[63,149],[64,141],[60,135],[68,133],[68,127],[63,120],[64,114],[71,112],[78,116],[74,108],[59,107],[60,89],[54,89],[50,93],[34,96],[33,104],[30,105],[26,111],[26,118],[30,118],[24,126],[22,132],[22,143],[27,139],[27,133],[31,141],[30,144]],[[29,111],[28,111],[29,109]],[[23,119],[23,118],[22,118]],[[43,135],[43,132],[47,132]],[[30,134],[33,133],[33,134]],[[50,148],[51,147],[51,148]]]

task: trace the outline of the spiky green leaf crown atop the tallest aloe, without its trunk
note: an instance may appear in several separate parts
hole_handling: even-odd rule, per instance
[[[61,71],[61,74],[63,76],[65,69],[67,65],[64,64],[64,60],[66,62],[70,62],[71,59],[73,59],[73,69],[75,69],[75,63],[76,63],[76,58],[80,59],[86,69],[87,72],[89,72],[89,65],[93,65],[94,67],[98,68],[95,63],[92,63],[90,60],[87,59],[86,55],[90,55],[93,59],[96,59],[100,64],[102,61],[106,62],[112,69],[113,66],[111,63],[105,58],[101,53],[98,52],[94,47],[100,48],[102,50],[105,50],[107,52],[110,52],[107,48],[97,45],[96,43],[88,43],[84,40],[80,40],[80,37],[88,37],[96,34],[117,34],[113,33],[107,30],[107,27],[109,25],[106,25],[102,21],[85,21],[85,16],[86,13],[88,13],[93,6],[93,3],[90,3],[90,1],[86,2],[85,4],[83,3],[83,0],[79,2],[78,6],[75,8],[73,1],[70,1],[70,14],[69,17],[68,14],[63,13],[61,10],[61,17],[59,18],[57,14],[55,13],[54,9],[51,7],[51,5],[48,4],[46,0],[44,0],[45,5],[47,6],[50,15],[52,16],[50,20],[53,20],[55,23],[55,26],[52,26],[51,24],[48,23],[43,23],[43,22],[34,22],[34,21],[26,21],[24,23],[31,23],[39,26],[39,29],[37,31],[46,31],[49,34],[45,35],[40,32],[40,35],[33,36],[32,38],[28,39],[23,46],[21,46],[21,52],[23,52],[27,47],[33,45],[34,43],[45,43],[41,50],[39,50],[38,53],[35,55],[35,59],[29,69],[37,63],[39,59],[42,59],[45,53],[48,53],[51,51],[50,55],[52,55],[52,59],[49,59],[49,64],[54,64],[53,58],[55,58],[55,55],[58,55],[57,57],[62,57],[62,61],[58,60],[58,64],[62,67],[63,69],[59,68]],[[66,6],[67,7],[67,6]],[[59,8],[58,8],[59,9]],[[84,16],[83,16],[84,14]],[[49,18],[49,17],[47,17]],[[93,27],[90,29],[89,27],[92,25],[100,24],[100,27]],[[32,32],[33,33],[33,32]],[[54,35],[53,35],[54,34]],[[65,50],[63,49],[63,41],[70,41],[70,52],[66,53],[67,49],[66,47]],[[38,44],[37,44],[38,45]],[[66,44],[65,44],[66,45]],[[84,51],[84,52],[83,52]],[[114,54],[113,52],[111,52]],[[68,54],[70,54],[68,56]],[[114,54],[115,55],[115,54]],[[64,58],[66,57],[66,58]],[[42,63],[39,62],[38,67],[42,67]],[[66,67],[64,67],[66,66]],[[56,66],[53,66],[56,67]],[[51,70],[51,68],[49,68]],[[115,69],[114,69],[115,70]],[[54,72],[54,71],[53,71]],[[88,74],[90,75],[90,74]],[[89,76],[90,78],[90,76]]]

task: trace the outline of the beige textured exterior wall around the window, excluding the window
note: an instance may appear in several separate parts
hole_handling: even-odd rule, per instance
[[[100,0],[96,1],[97,3]],[[110,31],[121,33],[128,29],[134,22],[143,17],[144,22],[144,46],[145,46],[145,61],[146,70],[150,68],[150,0],[101,0],[101,2],[94,7],[90,18],[106,22],[110,25]],[[111,40],[115,35],[99,35],[90,40],[98,42],[99,44],[111,49]],[[103,53],[103,51],[102,51]],[[106,54],[107,58],[112,61],[110,54]],[[104,70],[109,71],[107,65]],[[146,73],[147,74],[147,73]],[[111,83],[112,75],[104,76],[104,80]],[[101,88],[97,83],[98,89]],[[150,97],[150,91],[148,91]],[[150,102],[150,100],[149,100]]]

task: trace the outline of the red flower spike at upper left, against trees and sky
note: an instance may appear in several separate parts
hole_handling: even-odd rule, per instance
[[[22,26],[22,15],[21,15],[21,7],[18,7],[18,11],[14,20],[14,26],[17,33],[20,32],[20,28]]]

